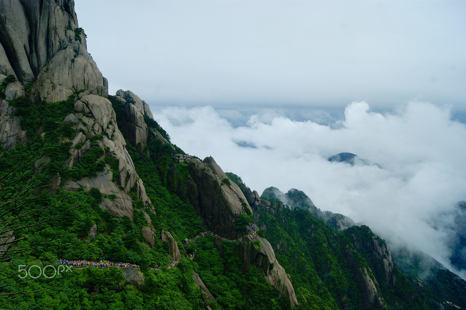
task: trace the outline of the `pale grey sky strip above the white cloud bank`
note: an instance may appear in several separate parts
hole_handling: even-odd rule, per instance
[[[352,101],[384,110],[417,99],[466,112],[466,1],[76,0],[75,10],[110,93],[154,106],[343,113]]]

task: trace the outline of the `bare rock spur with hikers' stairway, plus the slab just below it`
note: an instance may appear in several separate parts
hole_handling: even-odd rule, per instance
[[[182,199],[188,199],[192,203],[207,228],[215,234],[228,239],[244,236],[245,232],[237,230],[235,225],[241,214],[252,214],[253,210],[240,187],[229,180],[212,157],[206,157],[203,162],[193,158],[189,161],[188,169],[190,176],[186,178],[183,190],[179,193]],[[230,182],[224,182],[223,179]],[[250,228],[247,227],[247,230]],[[245,263],[253,263],[263,270],[267,282],[288,296],[292,306],[297,305],[293,285],[277,262],[270,243],[267,239],[260,238],[259,249],[256,245],[246,237],[241,241],[240,255]]]

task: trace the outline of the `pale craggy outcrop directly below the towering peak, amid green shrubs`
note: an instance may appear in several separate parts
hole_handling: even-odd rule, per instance
[[[116,195],[117,199],[115,201],[110,202],[108,199],[104,199],[103,205],[108,207],[114,215],[126,215],[132,218],[131,198],[127,195],[130,190],[136,187],[138,199],[149,203],[150,200],[125,148],[126,142],[118,129],[115,111],[107,98],[98,95],[99,92],[100,94],[106,94],[104,88],[94,88],[79,94],[75,98],[74,107],[76,112],[67,115],[63,120],[63,122],[71,124],[76,131],[79,131],[73,139],[67,165],[69,168],[73,167],[79,161],[79,157],[87,152],[91,146],[88,137],[104,134],[102,141],[97,143],[103,150],[107,150],[108,155],[118,160],[118,184],[111,182],[113,172],[108,166],[105,167],[105,173],[84,178],[77,183],[85,188],[96,187],[101,189],[104,195]],[[99,182],[103,183],[100,184]],[[119,185],[120,189],[117,185]],[[68,188],[73,187],[72,183],[68,186]],[[117,201],[118,203],[116,203]]]

